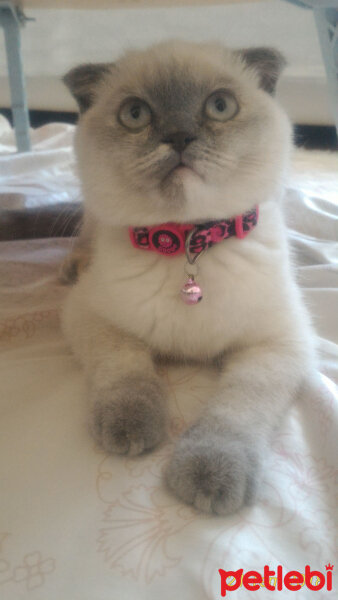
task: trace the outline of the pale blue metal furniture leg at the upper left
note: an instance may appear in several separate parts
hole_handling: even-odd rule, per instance
[[[21,24],[16,9],[10,3],[0,2],[0,24],[4,28],[5,34],[17,149],[19,152],[28,152],[31,149],[31,145],[29,138],[29,115],[21,60]]]

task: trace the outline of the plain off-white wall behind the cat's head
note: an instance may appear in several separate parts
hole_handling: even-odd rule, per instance
[[[289,66],[279,97],[298,123],[332,123],[311,10],[281,0],[224,6],[126,10],[31,10],[22,32],[30,108],[72,110],[60,77],[85,61],[111,61],[125,48],[165,38],[219,40],[229,46],[273,45]],[[9,105],[0,36],[0,106]]]

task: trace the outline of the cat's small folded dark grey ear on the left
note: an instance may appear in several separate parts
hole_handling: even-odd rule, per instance
[[[63,82],[77,101],[81,113],[92,105],[96,86],[112,66],[107,63],[79,65],[63,77]]]

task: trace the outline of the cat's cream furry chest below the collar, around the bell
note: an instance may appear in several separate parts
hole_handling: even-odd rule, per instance
[[[204,254],[196,276],[203,299],[187,305],[180,295],[187,280],[184,257],[136,252],[120,248],[110,261],[100,256],[95,303],[102,315],[163,354],[212,357],[241,335],[248,317],[243,293],[251,281],[240,262],[237,268],[234,259],[224,262],[214,248]]]

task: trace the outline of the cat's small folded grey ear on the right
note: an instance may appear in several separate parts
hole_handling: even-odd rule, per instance
[[[286,66],[284,56],[274,48],[244,48],[237,52],[243,62],[254,69],[260,79],[260,87],[274,94],[279,76]]]

